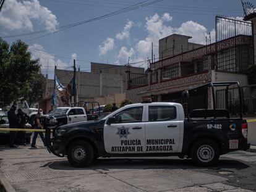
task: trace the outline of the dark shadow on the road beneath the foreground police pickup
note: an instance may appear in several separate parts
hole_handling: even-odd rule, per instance
[[[54,161],[48,167],[56,170],[110,169],[246,169],[250,167],[235,160],[220,160],[214,167],[197,167],[191,159],[97,159],[90,167],[75,168],[68,161]]]

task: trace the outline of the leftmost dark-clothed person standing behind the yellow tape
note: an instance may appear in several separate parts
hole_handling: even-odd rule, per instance
[[[16,106],[12,105],[11,109],[7,112],[7,117],[9,120],[9,128],[17,128],[18,125],[18,118],[15,114]],[[14,140],[16,138],[16,131],[10,131],[10,148],[17,148],[17,146],[14,144]]]

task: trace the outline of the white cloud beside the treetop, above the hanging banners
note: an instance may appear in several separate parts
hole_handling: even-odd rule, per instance
[[[28,47],[28,51],[32,54],[32,59],[40,59],[41,70],[43,73],[46,73],[47,70],[50,74],[50,78],[53,78],[54,66],[57,68],[63,69],[64,67],[69,67],[69,64],[62,62],[60,59],[56,59],[54,54],[50,54],[45,51],[45,48],[40,44],[33,44]]]

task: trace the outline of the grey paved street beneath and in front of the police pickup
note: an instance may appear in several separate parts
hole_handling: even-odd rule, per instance
[[[97,159],[78,169],[43,147],[29,146],[1,146],[0,157],[7,191],[256,191],[255,152],[226,154],[215,167],[196,167],[177,157],[146,157]]]

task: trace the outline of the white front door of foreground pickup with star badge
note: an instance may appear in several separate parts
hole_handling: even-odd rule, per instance
[[[145,105],[127,107],[112,117],[116,122],[104,125],[106,152],[113,154],[145,153]]]

